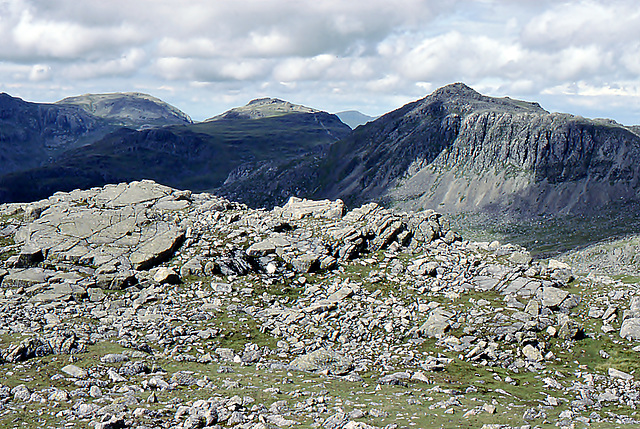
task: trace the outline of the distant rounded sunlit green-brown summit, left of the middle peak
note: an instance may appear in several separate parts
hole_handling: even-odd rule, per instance
[[[147,128],[193,122],[176,107],[139,92],[85,94],[65,98],[56,104],[77,106],[114,125],[127,127]]]

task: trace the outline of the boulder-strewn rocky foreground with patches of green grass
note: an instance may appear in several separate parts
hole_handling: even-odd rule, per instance
[[[0,206],[0,427],[640,423],[635,284],[426,210],[153,182]]]

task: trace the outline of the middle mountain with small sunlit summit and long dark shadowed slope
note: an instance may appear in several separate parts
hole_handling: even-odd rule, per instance
[[[31,201],[56,191],[139,179],[195,191],[239,181],[251,195],[254,171],[298,165],[297,158],[318,156],[350,132],[335,115],[281,100],[254,100],[205,122],[122,128],[48,165],[0,178],[0,200]]]

